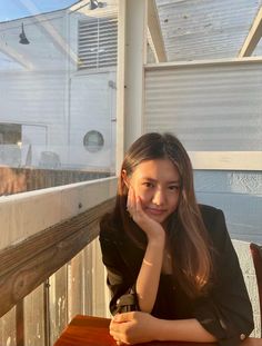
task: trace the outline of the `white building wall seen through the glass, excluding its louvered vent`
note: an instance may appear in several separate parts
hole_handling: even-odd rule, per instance
[[[22,134],[23,155],[18,166],[24,164],[29,146],[33,166],[41,164],[42,151],[57,154],[67,168],[108,171],[114,165],[111,118],[115,117],[115,90],[110,81],[114,85],[115,71],[78,72],[78,20],[83,18],[87,16],[62,10],[0,24],[4,32],[4,42],[0,42],[0,122],[21,123],[22,131],[30,126],[36,130],[36,135]],[[29,45],[19,43],[22,22]],[[99,130],[104,137],[104,148],[98,155],[83,147],[88,130]]]

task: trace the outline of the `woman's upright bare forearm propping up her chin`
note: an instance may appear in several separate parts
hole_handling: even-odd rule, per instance
[[[144,258],[137,280],[137,295],[142,312],[151,313],[159,287],[163,260],[164,238],[148,243]]]

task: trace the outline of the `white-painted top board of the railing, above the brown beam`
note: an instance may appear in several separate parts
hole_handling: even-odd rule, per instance
[[[115,190],[112,177],[0,198],[0,250],[114,197]]]

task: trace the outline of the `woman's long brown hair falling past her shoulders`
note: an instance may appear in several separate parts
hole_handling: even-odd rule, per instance
[[[168,158],[180,175],[180,200],[177,210],[169,217],[167,226],[168,244],[172,249],[173,275],[190,297],[205,291],[212,274],[210,244],[205,226],[196,204],[193,170],[187,150],[171,134],[145,134],[128,150],[121,172],[131,176],[135,167],[145,160]],[[119,178],[113,224],[121,227],[141,247],[147,246],[147,237],[127,212],[128,189]]]

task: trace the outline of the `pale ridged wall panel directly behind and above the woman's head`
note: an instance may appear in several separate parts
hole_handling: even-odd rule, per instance
[[[262,61],[145,70],[145,131],[173,131],[188,150],[262,150]]]

